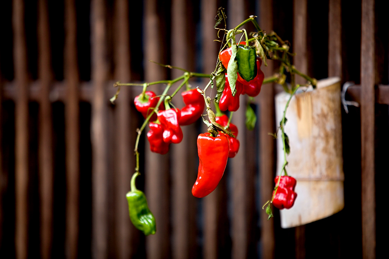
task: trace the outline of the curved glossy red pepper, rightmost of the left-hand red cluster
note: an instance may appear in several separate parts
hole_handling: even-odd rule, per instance
[[[192,89],[181,93],[185,106],[181,109],[181,118],[178,123],[181,126],[194,123],[201,117],[204,111],[204,97],[197,91]]]

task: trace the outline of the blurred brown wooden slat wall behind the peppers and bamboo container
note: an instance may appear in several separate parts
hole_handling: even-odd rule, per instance
[[[388,232],[382,207],[389,155],[384,3],[1,1],[0,258],[382,255],[378,237]],[[198,166],[196,136],[205,130],[203,123],[183,127],[184,140],[171,145],[167,155],[151,153],[142,134],[137,186],[157,219],[157,234],[144,237],[130,223],[125,199],[135,168],[136,128],[143,121],[133,105],[141,87],[122,87],[112,105],[113,83],[181,75],[148,60],[212,72],[220,47],[213,41],[220,6],[226,8],[229,28],[255,15],[263,30],[289,40],[302,72],[355,82],[346,99],[366,106],[349,106],[348,114],[342,109],[345,207],[294,228],[280,227],[277,210],[267,221],[262,205],[271,195],[276,158],[267,133],[275,131],[274,94],[280,87],[266,85],[251,104],[258,117],[253,131],[245,128],[245,109],[236,112],[232,122],[239,128],[241,149],[206,198],[191,194]],[[251,24],[246,29],[254,30]],[[265,77],[276,67],[263,66]],[[203,87],[204,81],[191,84]],[[366,99],[374,85],[375,99]],[[161,94],[164,86],[150,88]],[[181,107],[178,99],[174,104]],[[245,97],[241,102],[244,107]]]

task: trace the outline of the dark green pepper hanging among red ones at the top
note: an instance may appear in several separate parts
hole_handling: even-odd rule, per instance
[[[236,52],[238,72],[247,82],[253,80],[257,75],[257,54],[251,46],[238,45]]]

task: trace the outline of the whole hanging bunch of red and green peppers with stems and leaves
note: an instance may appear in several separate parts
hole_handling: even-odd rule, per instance
[[[134,100],[136,109],[141,112],[145,121],[140,129],[137,129],[137,139],[135,143],[136,168],[131,179],[131,191],[127,193],[127,201],[131,222],[145,235],[155,234],[156,224],[151,211],[147,206],[144,193],[137,190],[135,187],[135,179],[140,175],[139,170],[139,152],[138,145],[142,131],[147,124],[149,132],[147,139],[150,142],[150,150],[159,154],[166,154],[169,151],[171,143],[177,144],[182,141],[183,134],[181,126],[189,125],[197,121],[206,107],[208,120],[203,118],[204,123],[208,126],[208,132],[200,134],[197,137],[197,153],[199,157],[198,174],[195,184],[192,188],[192,194],[195,197],[202,198],[210,194],[217,187],[227,166],[228,158],[233,158],[239,151],[238,128],[231,123],[231,118],[234,111],[240,108],[240,96],[247,94],[248,99],[257,96],[262,84],[277,82],[283,85],[285,91],[291,94],[288,103],[286,104],[283,120],[280,123],[281,136],[283,138],[283,150],[285,155],[285,163],[280,176],[275,178],[276,186],[273,191],[272,199],[266,204],[266,212],[269,218],[272,217],[270,204],[273,204],[279,209],[290,208],[293,206],[297,197],[294,191],[296,180],[287,175],[286,172],[286,154],[289,154],[289,141],[284,132],[286,122],[286,109],[292,96],[300,87],[294,83],[295,74],[298,74],[308,81],[308,84],[316,86],[316,79],[312,79],[299,72],[290,62],[290,57],[293,53],[289,52],[289,44],[283,41],[274,32],[266,34],[261,30],[255,17],[249,17],[237,27],[231,30],[226,30],[226,16],[224,9],[219,8],[215,29],[218,35],[223,32],[222,48],[220,49],[218,60],[214,71],[211,74],[201,74],[189,72],[184,69],[173,67],[170,65],[161,65],[170,69],[184,70],[182,76],[172,80],[161,80],[156,82],[136,84],[115,83],[114,86],[119,86],[113,102],[120,92],[120,86],[143,86],[143,90]],[[252,22],[256,28],[256,32],[251,33],[250,37],[245,29],[240,29],[248,22]],[[224,28],[218,28],[220,24],[224,24]],[[245,41],[240,41],[236,44],[235,36],[242,34],[245,36]],[[242,39],[242,38],[241,38]],[[227,46],[228,45],[228,46]],[[272,77],[264,79],[264,73],[261,70],[261,65],[266,59],[278,60],[281,62],[280,72]],[[285,83],[286,76],[291,78],[291,86]],[[210,81],[204,89],[190,89],[188,81],[193,77],[209,78]],[[216,92],[214,96],[208,94],[209,86],[214,88],[216,83]],[[172,94],[168,94],[171,86],[177,82],[181,82]],[[162,95],[157,96],[152,91],[147,91],[147,87],[157,84],[166,84],[166,88]],[[177,92],[186,86],[186,91],[181,93],[184,107],[171,108],[171,101]],[[211,101],[214,101],[216,114],[211,109]],[[246,125],[249,130],[255,127],[256,116],[255,111],[251,106],[246,105]],[[230,117],[223,114],[222,111],[229,111]],[[205,115],[203,115],[205,116]],[[277,137],[277,134],[274,135]],[[283,175],[282,175],[283,174]],[[266,205],[265,204],[265,205]],[[264,205],[264,207],[265,207]]]

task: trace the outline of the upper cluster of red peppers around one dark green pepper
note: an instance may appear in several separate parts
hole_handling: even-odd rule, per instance
[[[237,111],[239,109],[239,96],[241,94],[255,97],[261,91],[261,86],[265,78],[264,72],[261,70],[262,59],[257,57],[254,47],[245,45],[245,41],[237,45],[235,59],[238,64],[238,78],[235,85],[235,96],[232,96],[230,83],[226,74],[226,85],[219,100],[219,107],[222,111]],[[231,54],[231,47],[219,53],[219,59],[226,70],[228,69]]]

